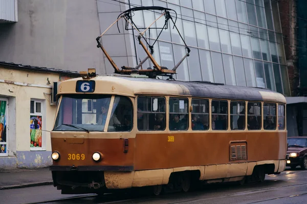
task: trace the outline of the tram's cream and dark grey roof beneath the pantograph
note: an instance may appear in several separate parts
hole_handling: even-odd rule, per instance
[[[82,80],[82,78],[75,78],[67,81],[76,83],[78,80]],[[109,89],[112,87],[110,93],[122,93],[123,95],[131,96],[139,94],[157,94],[286,103],[286,98],[282,94],[269,89],[255,87],[122,76],[98,76],[91,80],[96,81],[97,93],[100,92],[100,87],[108,87]],[[104,85],[101,86],[100,82]],[[109,86],[105,86],[107,84]],[[63,89],[67,90],[66,88]],[[68,91],[64,90],[62,92]],[[108,91],[103,90],[103,92],[107,93]]]

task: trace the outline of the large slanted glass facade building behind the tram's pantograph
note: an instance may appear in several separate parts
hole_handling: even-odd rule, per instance
[[[277,1],[129,0],[129,4],[162,6],[177,12],[176,25],[191,53],[177,69],[175,79],[262,87],[290,96]],[[145,27],[159,16],[158,11],[138,11],[133,20],[138,27]],[[162,28],[164,20],[160,18],[154,26]],[[171,69],[186,49],[172,23],[168,26],[155,43],[153,56]],[[146,32],[150,44],[159,32]],[[137,41],[135,46],[137,59],[142,60],[145,53]]]

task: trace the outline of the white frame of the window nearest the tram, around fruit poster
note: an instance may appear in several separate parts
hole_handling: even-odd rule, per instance
[[[31,101],[34,101],[34,113],[31,113]],[[36,112],[36,103],[40,103],[40,112]],[[36,115],[36,116],[41,116],[41,129],[44,130],[45,129],[45,122],[46,122],[46,113],[45,113],[45,103],[44,100],[40,100],[40,99],[30,99],[30,115]],[[30,118],[29,118],[30,119]],[[30,136],[30,135],[29,135]],[[31,140],[31,137],[30,137]],[[45,151],[46,150],[46,136],[45,136],[45,132],[42,131],[41,132],[41,147],[30,147],[31,151]]]

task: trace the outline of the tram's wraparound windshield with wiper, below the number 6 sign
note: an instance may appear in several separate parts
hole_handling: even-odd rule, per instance
[[[130,131],[133,124],[131,101],[124,96],[115,96],[108,113],[111,95],[63,95],[54,131],[103,132],[108,114],[111,114],[107,131]],[[123,113],[123,114],[121,114]]]

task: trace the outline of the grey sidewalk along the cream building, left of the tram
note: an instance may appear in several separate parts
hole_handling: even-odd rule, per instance
[[[0,190],[52,184],[49,168],[0,170]]]

